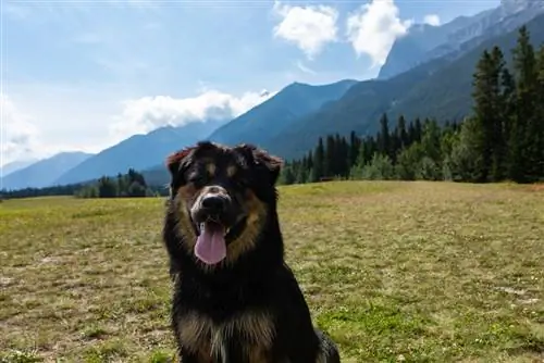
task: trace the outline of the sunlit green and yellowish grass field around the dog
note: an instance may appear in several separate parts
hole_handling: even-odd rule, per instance
[[[343,362],[544,362],[544,190],[280,190],[286,259]],[[162,213],[154,198],[1,203],[0,362],[165,362]]]

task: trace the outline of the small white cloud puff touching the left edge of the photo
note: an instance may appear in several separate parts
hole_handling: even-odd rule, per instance
[[[0,165],[33,158],[34,152],[39,150],[39,130],[32,117],[21,112],[7,95],[0,95]]]

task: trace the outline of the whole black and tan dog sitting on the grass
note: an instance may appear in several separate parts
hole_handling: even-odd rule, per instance
[[[163,239],[184,363],[339,363],[284,262],[274,187],[281,161],[199,142],[168,159]]]

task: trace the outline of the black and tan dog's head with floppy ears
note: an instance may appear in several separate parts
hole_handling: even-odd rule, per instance
[[[282,161],[251,145],[203,141],[170,155],[177,234],[200,261],[235,261],[255,247],[270,213]]]

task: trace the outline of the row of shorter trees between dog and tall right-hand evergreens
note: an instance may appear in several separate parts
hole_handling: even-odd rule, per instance
[[[443,154],[458,132],[456,123],[441,127],[435,120],[404,116],[390,130],[387,115],[380,120],[375,136],[348,138],[338,134],[319,138],[314,150],[285,164],[280,184],[304,184],[324,179],[444,179]]]

